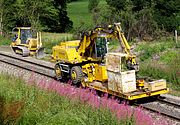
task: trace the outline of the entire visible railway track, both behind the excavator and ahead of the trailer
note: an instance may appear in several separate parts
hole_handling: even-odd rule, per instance
[[[0,62],[7,63],[40,75],[55,78],[54,64],[42,60],[36,60],[32,57],[21,57],[20,55],[0,51]],[[160,113],[171,119],[180,121],[180,101],[170,100],[168,98],[158,98],[156,101],[134,104],[144,109]]]

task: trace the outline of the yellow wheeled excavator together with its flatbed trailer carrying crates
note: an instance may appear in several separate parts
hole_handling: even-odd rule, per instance
[[[123,53],[108,53],[108,42],[118,39]],[[165,80],[136,80],[138,65],[124,37],[120,23],[85,32],[81,40],[61,42],[52,49],[56,78],[70,78],[73,84],[94,88],[127,100],[167,93]]]

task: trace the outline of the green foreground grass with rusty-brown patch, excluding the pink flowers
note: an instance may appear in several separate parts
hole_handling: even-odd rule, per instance
[[[21,79],[0,74],[0,124],[131,125],[105,109],[95,109],[50,91],[28,86]]]

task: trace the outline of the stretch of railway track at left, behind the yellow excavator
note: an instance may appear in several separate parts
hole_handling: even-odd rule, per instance
[[[55,78],[54,64],[32,57],[22,57],[21,55],[0,51],[0,62],[13,65],[40,75]]]

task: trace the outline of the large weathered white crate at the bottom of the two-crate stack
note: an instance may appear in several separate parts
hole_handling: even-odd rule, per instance
[[[135,70],[125,71],[121,73],[107,70],[107,73],[109,90],[120,93],[129,93],[136,91]]]

